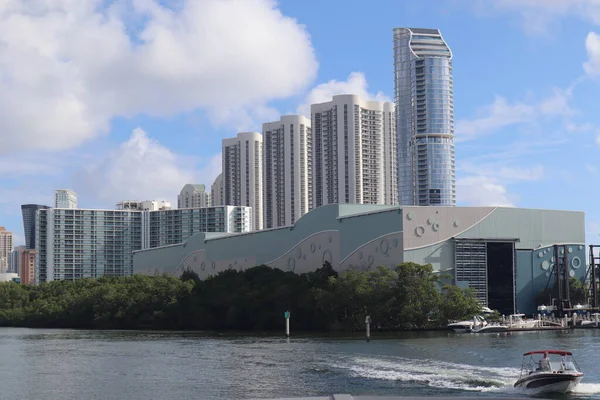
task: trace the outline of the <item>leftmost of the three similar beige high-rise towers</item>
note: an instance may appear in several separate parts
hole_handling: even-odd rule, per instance
[[[262,142],[258,132],[241,132],[235,138],[223,139],[222,202],[252,207],[255,230],[263,227]]]

